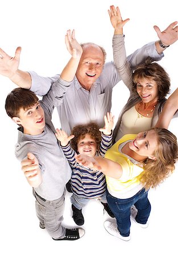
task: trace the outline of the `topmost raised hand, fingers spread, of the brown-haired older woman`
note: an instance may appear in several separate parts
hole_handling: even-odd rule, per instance
[[[119,10],[119,7],[117,6],[116,9],[114,5],[110,6],[110,10],[108,10],[109,16],[110,16],[110,21],[112,26],[116,31],[121,32],[120,34],[123,33],[122,28],[123,26],[130,20],[130,19],[125,19],[122,20],[122,16]]]

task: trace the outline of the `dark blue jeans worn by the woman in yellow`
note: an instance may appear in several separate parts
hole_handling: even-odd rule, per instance
[[[147,195],[148,192],[144,188],[128,199],[118,199],[111,196],[108,191],[106,192],[107,203],[115,215],[121,236],[128,237],[130,234],[130,207],[133,204],[138,209],[135,220],[141,224],[146,224],[151,211],[151,204]]]

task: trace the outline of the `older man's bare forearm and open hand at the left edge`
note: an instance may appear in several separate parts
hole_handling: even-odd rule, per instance
[[[0,74],[9,77],[16,85],[24,89],[30,89],[31,76],[28,72],[21,71],[19,68],[21,47],[16,48],[15,56],[7,55],[0,48]]]

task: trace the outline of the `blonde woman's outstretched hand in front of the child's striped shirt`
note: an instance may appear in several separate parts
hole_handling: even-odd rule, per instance
[[[75,158],[77,163],[81,164],[81,166],[88,167],[93,171],[101,170],[100,164],[98,164],[97,160],[91,156],[79,154],[75,155]]]

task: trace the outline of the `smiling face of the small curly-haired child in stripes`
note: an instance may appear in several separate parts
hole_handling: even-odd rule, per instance
[[[92,139],[89,134],[86,134],[83,139],[80,139],[77,143],[77,150],[79,154],[85,154],[88,156],[96,155],[97,143],[95,139]]]

